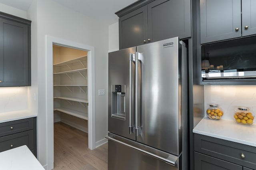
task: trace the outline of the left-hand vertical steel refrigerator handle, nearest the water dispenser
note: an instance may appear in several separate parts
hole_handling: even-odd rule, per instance
[[[129,81],[129,133],[132,134],[134,132],[134,125],[132,125],[132,62],[135,61],[135,55],[130,53],[130,81]]]

